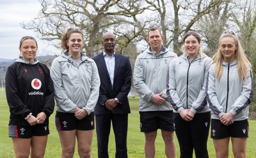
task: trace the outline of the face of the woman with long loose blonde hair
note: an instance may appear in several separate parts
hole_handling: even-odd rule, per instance
[[[236,58],[237,45],[232,37],[225,37],[220,40],[220,52],[225,62],[232,62]]]

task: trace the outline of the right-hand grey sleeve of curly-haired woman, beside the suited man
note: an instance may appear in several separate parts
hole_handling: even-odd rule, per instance
[[[86,106],[83,108],[87,111],[88,115],[94,110],[94,107],[98,101],[99,97],[99,88],[100,88],[100,77],[98,73],[97,65],[94,61],[92,64],[92,82],[91,82],[91,92],[90,97],[86,103]]]

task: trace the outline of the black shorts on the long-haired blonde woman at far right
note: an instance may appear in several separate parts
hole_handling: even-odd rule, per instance
[[[211,121],[211,138],[223,139],[228,137],[233,138],[248,138],[249,123],[248,120],[234,121],[233,124],[225,126],[218,119]]]

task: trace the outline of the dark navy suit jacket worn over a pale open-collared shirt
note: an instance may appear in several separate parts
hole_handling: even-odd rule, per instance
[[[118,98],[121,104],[117,104],[116,113],[131,113],[128,94],[131,90],[132,70],[129,58],[125,55],[116,53],[115,56],[115,72],[113,80],[113,89],[108,74],[108,69],[104,60],[103,52],[92,58],[98,67],[100,76],[100,92],[99,99],[95,106],[95,115],[104,115],[112,113],[109,111],[104,102],[108,99]]]

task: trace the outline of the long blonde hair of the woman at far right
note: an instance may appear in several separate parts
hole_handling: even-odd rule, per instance
[[[220,36],[220,41],[221,39],[228,38],[228,37],[233,38],[236,43],[237,50],[235,51],[235,59],[237,62],[237,71],[238,71],[239,79],[240,81],[243,79],[246,80],[246,77],[247,77],[246,63],[249,64],[251,72],[252,72],[252,65],[250,64],[250,61],[248,61],[248,59],[246,58],[246,54],[244,53],[241,43],[237,38],[236,32],[228,29],[227,31],[223,32],[223,34]],[[220,46],[220,41],[219,41],[219,46]],[[215,73],[216,73],[217,79],[218,81],[220,81],[220,77],[223,73],[223,65],[222,65],[223,55],[220,52],[220,47],[218,48],[218,51],[212,57],[212,59],[213,59],[213,63],[216,64]]]

